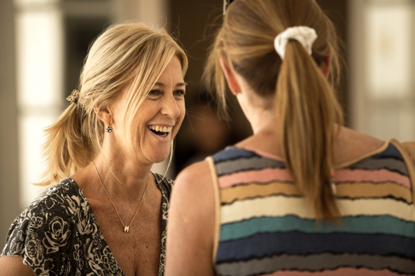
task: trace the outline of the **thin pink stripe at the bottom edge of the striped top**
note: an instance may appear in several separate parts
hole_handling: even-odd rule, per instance
[[[314,275],[333,275],[333,276],[396,276],[398,273],[391,272],[390,270],[370,270],[367,268],[338,268],[336,270],[324,270],[324,271],[278,271],[272,274],[264,274],[264,276],[314,276]]]

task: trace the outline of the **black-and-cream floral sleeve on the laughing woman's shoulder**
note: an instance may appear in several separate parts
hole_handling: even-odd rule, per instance
[[[88,201],[67,178],[48,188],[13,221],[1,255],[23,257],[36,275],[67,275],[86,269],[81,257],[88,250],[108,251]]]

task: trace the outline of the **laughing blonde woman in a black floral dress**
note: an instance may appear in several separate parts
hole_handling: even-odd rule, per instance
[[[59,183],[13,221],[0,275],[163,275],[172,181],[150,168],[183,121],[186,70],[163,29],[100,34],[80,90],[46,130],[43,184]]]

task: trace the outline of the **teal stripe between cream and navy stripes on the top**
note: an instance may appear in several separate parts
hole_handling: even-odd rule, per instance
[[[390,234],[415,238],[415,223],[389,215],[344,217],[340,225],[312,219],[300,219],[294,215],[285,217],[255,217],[248,220],[221,225],[220,242],[241,239],[257,233],[290,232],[303,233],[361,233]]]

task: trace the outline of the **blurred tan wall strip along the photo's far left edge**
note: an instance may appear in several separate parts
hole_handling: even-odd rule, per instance
[[[19,215],[15,17],[12,0],[0,1],[0,250]]]

